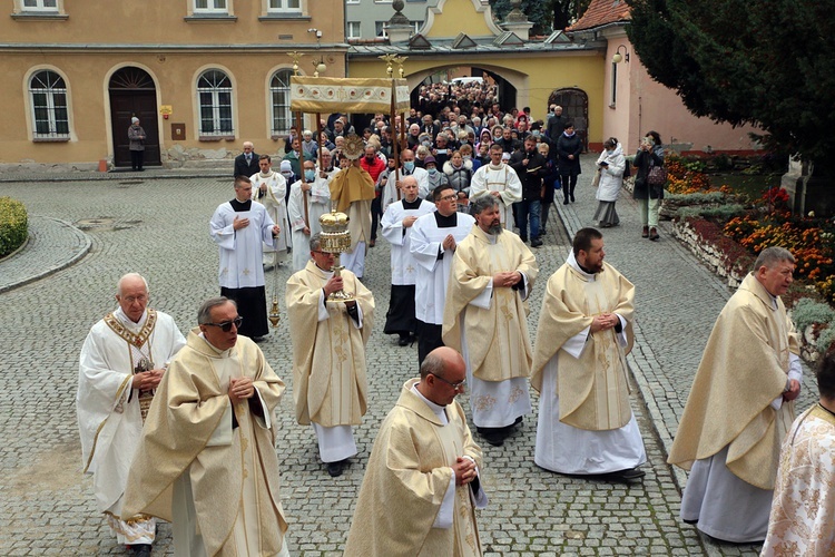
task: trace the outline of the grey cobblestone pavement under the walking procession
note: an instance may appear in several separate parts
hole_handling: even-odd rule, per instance
[[[583,164],[590,167],[592,162]],[[577,204],[559,206],[572,232],[591,224],[596,202],[590,176],[589,170],[582,175]],[[78,352],[89,328],[116,306],[116,281],[128,271],[148,278],[151,306],[171,314],[184,332],[194,325],[199,302],[218,292],[217,250],[207,224],[217,204],[232,197],[232,180],[158,179],[148,174],[46,180],[37,187],[4,183],[2,190],[26,203],[36,242],[0,262],[0,555],[124,555],[96,512],[90,479],[80,473]],[[675,433],[701,349],[729,293],[668,234],[658,243],[642,241],[631,201],[619,202],[618,208],[622,224],[606,234],[607,258],[638,286],[638,342],[630,363],[639,387],[632,405],[647,446],[647,477],[642,485],[623,486],[537,468],[534,395],[534,414],[504,447],[483,443],[482,473],[490,495],[489,508],[479,515],[483,546],[488,555],[520,556],[755,555],[758,548],[753,546],[706,543],[678,520],[682,476],[677,478],[665,463],[665,447]],[[53,219],[72,223],[86,234],[61,234],[65,225],[56,227]],[[536,251],[540,280],[530,304],[532,333],[544,281],[569,250],[569,235],[556,214],[549,224],[546,245]],[[82,258],[12,287],[12,275],[52,270],[49,254],[57,246],[66,251],[65,261],[84,252],[85,238],[89,252],[81,253]],[[262,344],[288,384],[278,410],[276,450],[294,555],[341,554],[380,421],[402,383],[416,374],[416,346],[399,348],[382,334],[387,267],[387,245],[380,238],[370,251],[365,277],[379,316],[367,354],[370,410],[356,428],[360,453],[342,477],[326,475],[312,429],[293,420],[286,320]],[[286,267],[267,274],[268,295],[276,277],[282,306],[288,276]],[[466,397],[463,402],[466,405]],[[158,538],[157,554],[170,554],[167,525]]]

